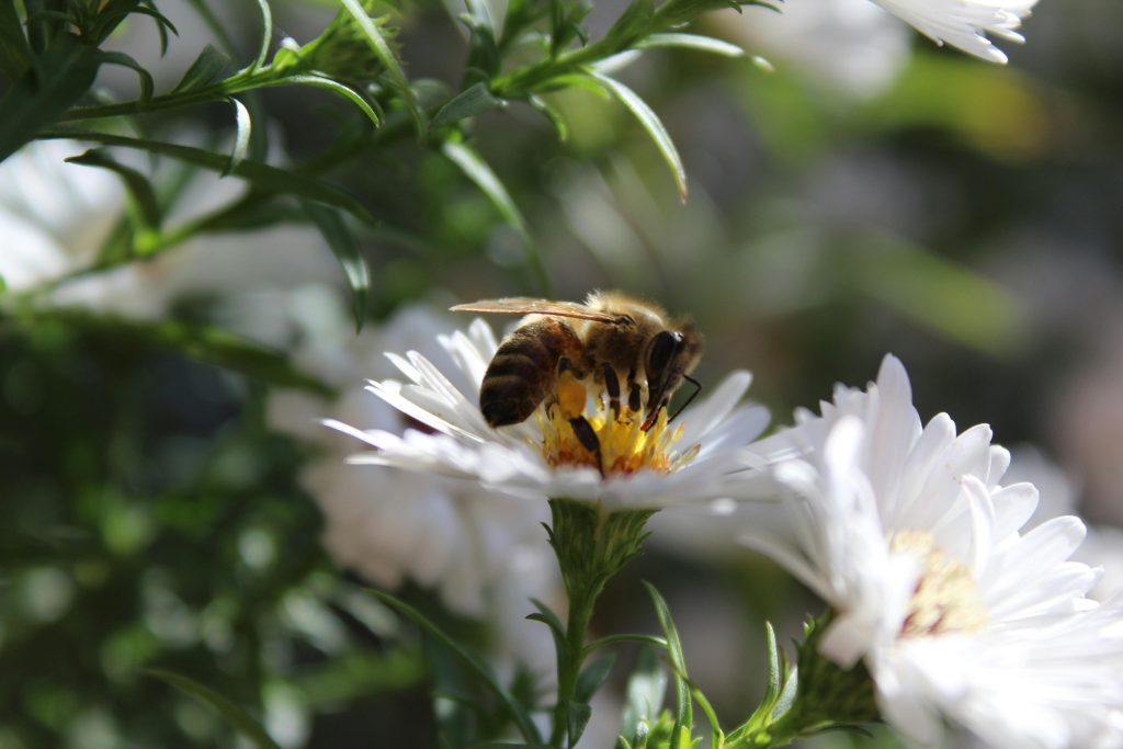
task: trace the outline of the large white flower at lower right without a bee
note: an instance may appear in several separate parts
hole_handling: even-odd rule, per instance
[[[893,357],[822,411],[759,444],[787,456],[782,500],[742,537],[830,604],[821,652],[864,660],[883,716],[917,745],[943,720],[995,747],[1123,740],[1123,601],[1085,597],[1097,570],[1069,560],[1084,524],[1020,533],[1037,490],[999,484],[1010,455],[988,427],[922,427]]]

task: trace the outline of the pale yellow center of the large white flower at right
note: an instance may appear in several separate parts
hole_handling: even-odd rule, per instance
[[[986,627],[986,605],[970,570],[944,556],[931,533],[897,531],[891,548],[912,552],[922,564],[901,637],[977,632]]]

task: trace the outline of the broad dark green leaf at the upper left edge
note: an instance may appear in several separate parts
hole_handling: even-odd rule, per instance
[[[63,34],[0,99],[0,161],[54,125],[93,84],[101,53]]]

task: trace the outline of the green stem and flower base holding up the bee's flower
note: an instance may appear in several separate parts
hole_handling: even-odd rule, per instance
[[[600,504],[550,500],[550,546],[557,555],[569,599],[565,632],[555,632],[558,648],[558,698],[550,746],[576,743],[588,716],[588,697],[578,694],[581,669],[588,649],[585,636],[604,586],[634,557],[647,538],[643,524],[654,510],[609,512]]]

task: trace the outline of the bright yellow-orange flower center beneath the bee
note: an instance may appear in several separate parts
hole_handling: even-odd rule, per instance
[[[670,428],[666,409],[645,431],[642,411],[632,411],[627,404],[612,405],[604,393],[593,399],[594,408],[585,412],[588,403],[585,384],[564,372],[558,376],[557,401],[539,409],[535,417],[542,430],[542,456],[551,466],[590,466],[603,475],[627,475],[649,468],[667,474],[678,469],[697,455],[700,445],[685,453],[675,449],[683,436],[682,423]],[[595,446],[590,449],[590,438],[583,439],[574,420],[584,419]],[[597,465],[600,460],[600,465]]]

